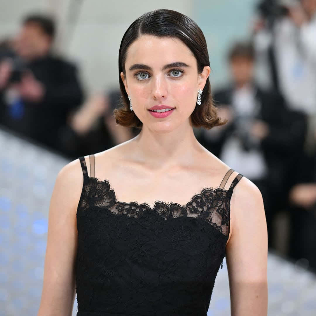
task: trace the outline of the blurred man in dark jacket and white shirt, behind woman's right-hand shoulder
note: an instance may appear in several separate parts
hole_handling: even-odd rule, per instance
[[[231,48],[232,82],[214,94],[219,116],[228,119],[228,124],[203,130],[199,140],[258,186],[271,247],[272,222],[285,207],[289,170],[301,151],[306,128],[304,115],[289,111],[280,94],[258,87],[253,79],[254,59],[250,43]]]

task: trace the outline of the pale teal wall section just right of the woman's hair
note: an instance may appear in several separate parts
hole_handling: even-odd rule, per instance
[[[213,88],[229,78],[227,51],[235,41],[250,38],[254,9],[259,0],[196,0],[195,21],[209,50]]]

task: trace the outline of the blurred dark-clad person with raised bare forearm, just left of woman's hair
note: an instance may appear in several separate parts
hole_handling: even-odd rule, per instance
[[[64,152],[75,159],[109,149],[135,137],[139,130],[118,125],[113,110],[121,103],[120,90],[95,94],[74,112],[64,129]]]

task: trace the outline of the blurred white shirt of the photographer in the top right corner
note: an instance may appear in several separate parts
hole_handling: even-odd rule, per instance
[[[287,6],[274,26],[276,69],[291,108],[316,113],[316,0]]]

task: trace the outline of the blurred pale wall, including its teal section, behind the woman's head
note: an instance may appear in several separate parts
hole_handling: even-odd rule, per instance
[[[226,52],[231,42],[247,38],[257,0],[0,0],[0,38],[18,30],[23,15],[52,12],[58,20],[55,47],[80,67],[89,93],[117,88],[119,45],[127,27],[154,9],[174,9],[190,16],[204,32],[213,72],[212,87],[228,77]]]

